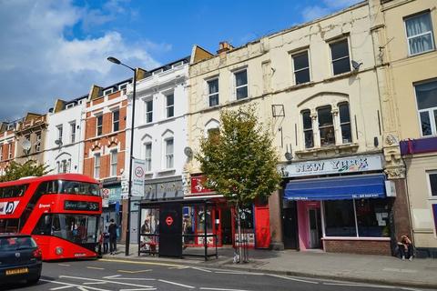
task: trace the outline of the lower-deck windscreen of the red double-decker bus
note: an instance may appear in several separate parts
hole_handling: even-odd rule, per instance
[[[97,242],[98,216],[45,215],[36,225],[33,235],[57,236],[76,244]]]

